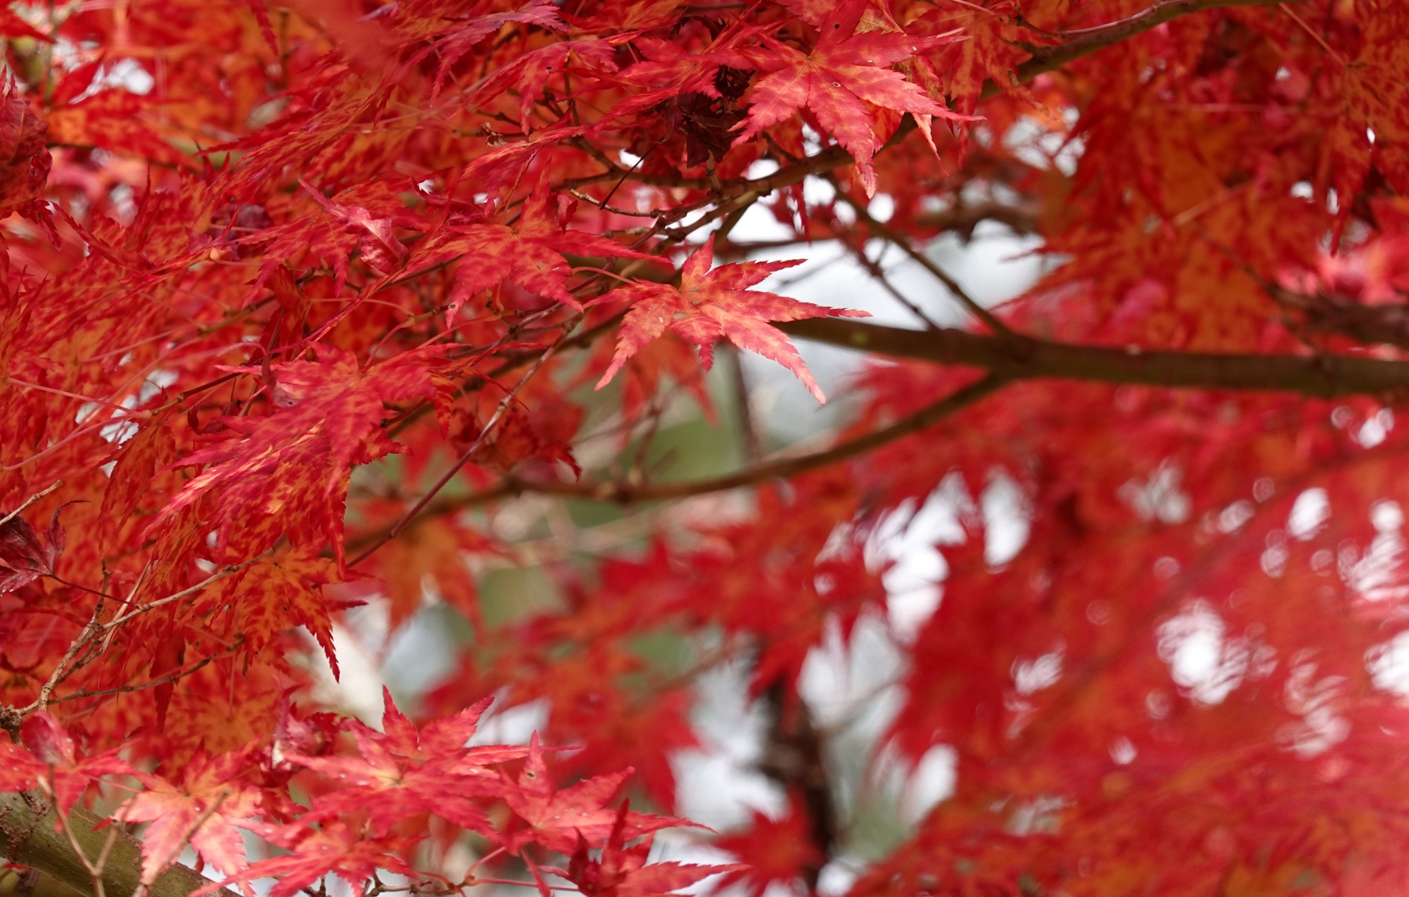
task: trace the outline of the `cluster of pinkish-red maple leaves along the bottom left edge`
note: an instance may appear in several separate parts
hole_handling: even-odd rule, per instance
[[[650,838],[621,853],[624,842],[689,822],[631,813],[626,803],[609,807],[630,769],[557,790],[537,739],[527,748],[466,746],[488,700],[423,728],[396,708],[390,694],[385,700],[380,731],[337,722],[331,714],[304,717],[285,705],[269,744],[214,756],[197,752],[170,777],[132,767],[118,751],[80,759],[63,727],[38,711],[18,729],[17,744],[0,745],[0,790],[37,789],[66,813],[103,776],[131,776],[142,790],[116,818],[148,822],[142,841],[148,886],[190,845],[203,863],[227,876],[223,884],[273,877],[269,893],[287,897],[335,874],[362,897],[378,870],[416,874],[409,859],[430,817],[483,835],[497,845],[493,853],[521,856],[544,897],[551,890],[530,848],[571,856],[568,870],[541,869],[586,894],[648,897],[734,869],[657,863],[643,872]],[[355,755],[338,752],[342,735]],[[310,805],[286,796],[294,779],[311,794]],[[495,807],[511,814],[500,821],[502,831],[490,821]],[[286,852],[251,863],[241,829]],[[588,853],[595,848],[602,849],[597,858]],[[476,882],[471,869],[452,887]]]

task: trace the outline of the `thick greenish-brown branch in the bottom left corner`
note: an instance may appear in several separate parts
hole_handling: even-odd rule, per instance
[[[68,818],[75,841],[90,858],[97,858],[108,838],[114,838],[103,865],[103,891],[106,897],[131,897],[142,877],[142,842],[121,828],[97,828],[106,820],[82,807],[69,810]],[[93,891],[87,865],[59,829],[54,808],[32,791],[0,793],[0,856],[38,869],[80,894]],[[194,869],[175,863],[147,893],[148,897],[186,897],[207,884],[210,880]],[[213,897],[238,894],[217,889]]]

